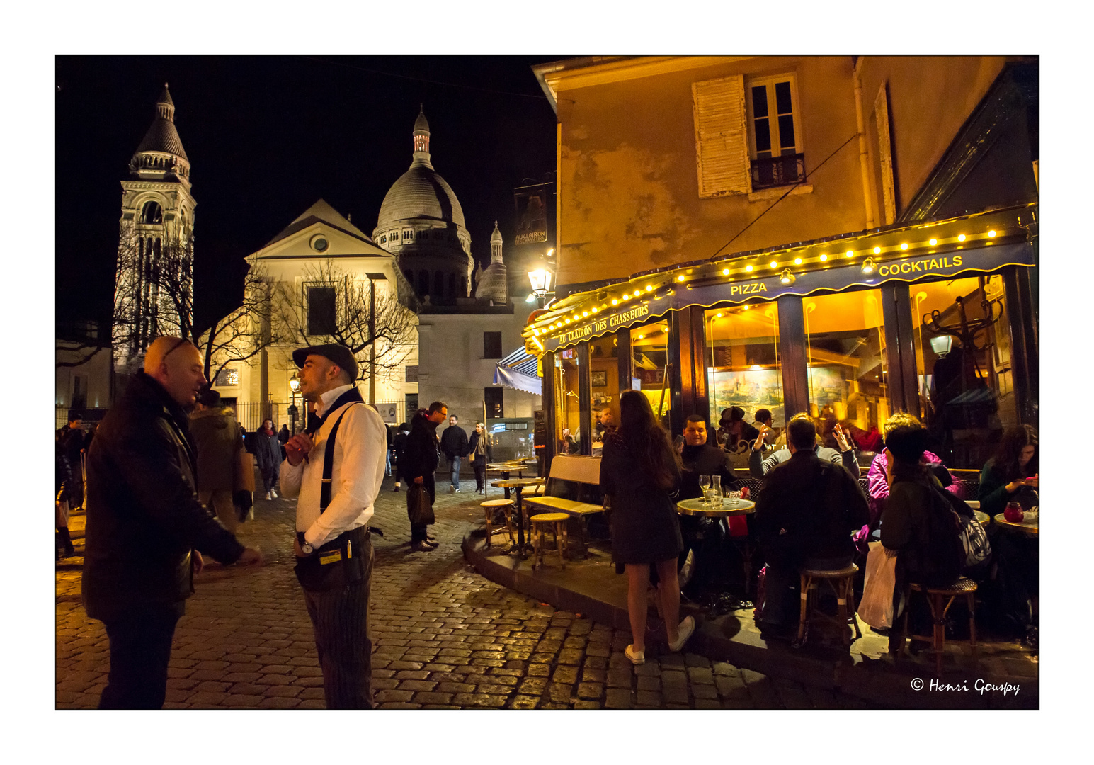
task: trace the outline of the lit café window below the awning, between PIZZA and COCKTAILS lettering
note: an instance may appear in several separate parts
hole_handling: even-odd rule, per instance
[[[839,422],[863,451],[889,416],[885,327],[878,290],[840,292],[803,301],[810,416],[824,445],[838,448]]]

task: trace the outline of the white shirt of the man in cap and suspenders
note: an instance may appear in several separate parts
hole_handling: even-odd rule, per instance
[[[321,414],[351,385],[327,391],[319,397]],[[346,412],[346,407],[349,410]],[[319,514],[319,492],[323,485],[323,459],[327,436],[338,417],[346,416],[335,437],[334,470],[330,473],[330,505]],[[344,404],[333,410],[312,437],[312,450],[296,466],[281,463],[281,494],[298,498],[296,531],[318,547],[345,531],[363,526],[374,512],[384,479],[387,432],[374,408],[368,404]]]

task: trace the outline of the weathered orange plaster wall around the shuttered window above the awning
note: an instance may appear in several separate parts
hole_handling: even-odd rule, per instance
[[[691,83],[729,74],[798,80],[811,194],[771,206],[700,199]],[[560,286],[865,228],[850,56],[757,57],[609,84],[558,88]],[[724,247],[724,250],[723,250]]]

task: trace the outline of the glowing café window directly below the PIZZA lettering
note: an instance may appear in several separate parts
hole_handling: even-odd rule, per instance
[[[783,426],[782,367],[779,359],[779,306],[753,303],[712,309],[705,314],[707,332],[707,387],[710,395],[710,432],[718,429],[722,412],[738,406],[745,422],[756,421],[757,409],[768,409],[775,427]],[[699,413],[703,414],[703,413]],[[773,434],[770,439],[775,441]],[[736,451],[747,456],[738,441]]]

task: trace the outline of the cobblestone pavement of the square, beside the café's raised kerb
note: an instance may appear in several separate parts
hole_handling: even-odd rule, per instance
[[[556,611],[473,571],[461,541],[482,517],[473,482],[439,482],[431,528],[409,549],[405,495],[385,482],[373,535],[373,688],[389,709],[872,708],[857,698],[767,677],[691,653],[631,667],[629,633]],[[323,708],[311,623],[292,572],[294,501],[256,501],[240,538],[260,568],[210,565],[178,622],[165,708]],[[78,556],[83,515],[72,518]],[[80,603],[80,564],[57,566],[56,706],[94,708],[109,669],[106,633]],[[875,705],[874,705],[875,706]]]

